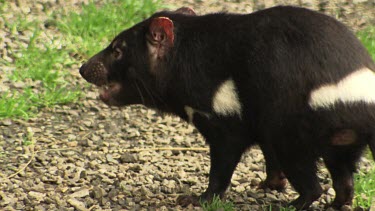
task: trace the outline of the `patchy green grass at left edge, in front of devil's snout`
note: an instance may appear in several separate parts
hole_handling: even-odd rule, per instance
[[[77,61],[73,61],[67,51],[56,47],[55,42],[42,40],[38,22],[17,18],[16,23],[6,24],[15,34],[15,39],[17,31],[31,30],[33,34],[27,46],[10,49],[14,62],[6,65],[15,69],[7,77],[14,83],[21,82],[24,85],[2,93],[0,118],[27,119],[37,114],[40,108],[78,100],[79,89],[70,86],[70,73],[65,71]]]

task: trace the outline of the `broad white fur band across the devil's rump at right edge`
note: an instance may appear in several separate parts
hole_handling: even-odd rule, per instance
[[[309,105],[313,109],[330,108],[337,102],[375,103],[375,73],[361,68],[349,74],[337,84],[323,85],[310,94]]]

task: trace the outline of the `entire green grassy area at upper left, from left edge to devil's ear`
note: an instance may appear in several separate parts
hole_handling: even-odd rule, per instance
[[[3,16],[13,39],[19,39],[18,32],[33,33],[26,46],[8,50],[13,62],[0,61],[15,68],[5,77],[24,84],[22,89],[1,93],[0,119],[27,119],[41,108],[77,102],[82,93],[76,83],[69,82],[72,76],[67,70],[100,51],[116,34],[148,17],[159,5],[153,0],[107,0],[90,1],[82,5],[80,13],[61,9],[53,12],[47,23],[64,36],[50,41],[41,36],[43,23],[38,20],[27,21],[25,15],[15,14],[15,19],[8,21]],[[0,16],[7,7],[6,2],[0,5]]]

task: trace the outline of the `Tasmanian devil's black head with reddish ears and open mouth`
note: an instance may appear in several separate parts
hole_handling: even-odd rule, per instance
[[[173,13],[195,15],[189,8]],[[175,25],[162,14],[121,32],[80,68],[83,78],[100,87],[100,99],[107,105],[153,105],[162,100],[163,67],[175,45]]]

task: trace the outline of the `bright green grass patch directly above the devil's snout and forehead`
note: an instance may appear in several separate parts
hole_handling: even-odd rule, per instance
[[[75,53],[92,56],[119,32],[149,17],[159,6],[155,0],[107,0],[100,8],[91,3],[80,14],[66,14],[57,27],[68,35]]]

